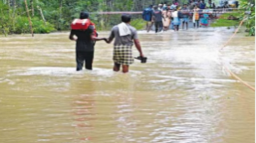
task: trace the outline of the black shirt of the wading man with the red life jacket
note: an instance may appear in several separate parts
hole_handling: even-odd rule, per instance
[[[94,51],[95,42],[91,40],[91,34],[93,33],[93,26],[89,26],[88,29],[71,30],[71,34],[77,37],[76,51]]]

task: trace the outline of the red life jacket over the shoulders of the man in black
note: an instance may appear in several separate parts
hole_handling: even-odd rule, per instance
[[[87,30],[89,26],[93,26],[93,34],[97,36],[95,24],[90,19],[74,19],[71,23],[72,30]]]

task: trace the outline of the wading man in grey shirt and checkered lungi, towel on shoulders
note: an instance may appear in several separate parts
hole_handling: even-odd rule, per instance
[[[114,42],[114,68],[113,70],[118,72],[122,65],[123,73],[129,71],[129,65],[134,62],[134,57],[132,56],[132,46],[135,43],[137,50],[139,51],[140,57],[144,57],[141,46],[138,40],[137,31],[134,27],[130,25],[131,16],[124,14],[121,17],[122,23],[116,25],[112,28],[108,43]]]

